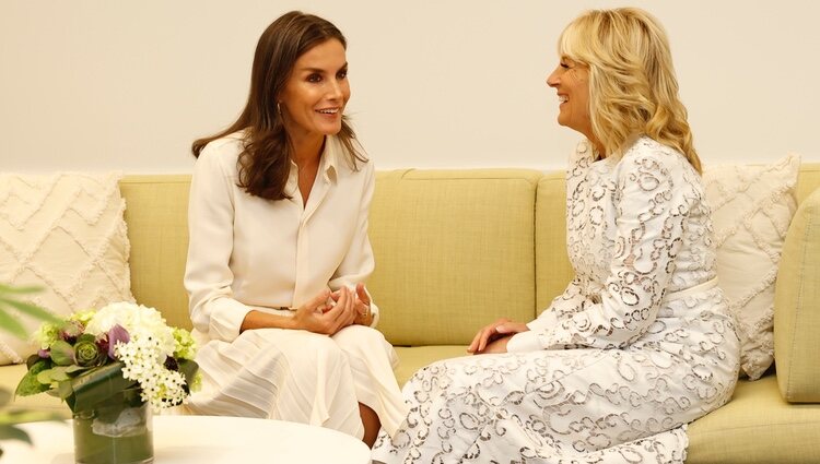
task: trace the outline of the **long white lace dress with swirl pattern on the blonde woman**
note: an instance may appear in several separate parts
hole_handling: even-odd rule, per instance
[[[567,171],[573,282],[511,353],[419,370],[374,460],[680,463],[686,424],[730,398],[739,343],[700,176],[648,138],[591,155],[579,144]]]

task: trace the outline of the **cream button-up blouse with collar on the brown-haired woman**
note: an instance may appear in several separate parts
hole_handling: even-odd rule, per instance
[[[330,288],[354,286],[373,272],[367,211],[373,163],[355,171],[336,136],[327,136],[307,204],[291,162],[290,200],[253,197],[237,187],[242,132],[209,143],[194,168],[185,287],[200,341],[232,342],[250,310],[289,314]],[[378,308],[371,304],[373,323]],[[198,333],[197,333],[198,332]],[[204,340],[202,340],[204,338]]]

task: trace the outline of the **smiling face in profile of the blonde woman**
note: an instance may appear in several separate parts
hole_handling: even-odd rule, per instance
[[[566,57],[547,78],[547,85],[558,92],[558,123],[574,129],[593,141],[589,118],[589,69]]]

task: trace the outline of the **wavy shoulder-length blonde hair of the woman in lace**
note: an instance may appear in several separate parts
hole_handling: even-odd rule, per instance
[[[589,68],[593,135],[607,155],[621,154],[631,139],[645,134],[701,171],[669,40],[655,17],[636,8],[588,11],[566,26],[558,49]]]

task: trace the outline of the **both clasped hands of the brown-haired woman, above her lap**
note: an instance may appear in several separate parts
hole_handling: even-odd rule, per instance
[[[293,314],[297,325],[306,331],[333,335],[351,324],[370,325],[371,298],[363,284],[355,290],[341,287],[336,292],[320,292],[300,306]]]

